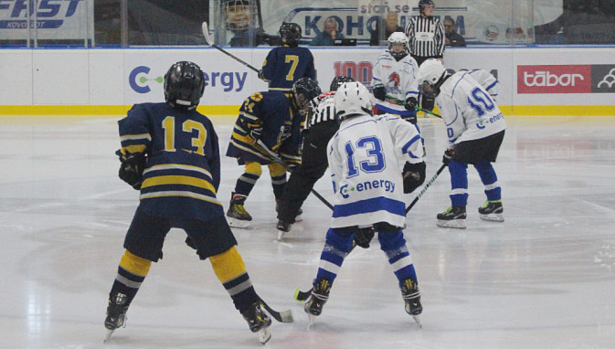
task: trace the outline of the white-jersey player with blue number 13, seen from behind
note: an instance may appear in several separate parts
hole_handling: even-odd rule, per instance
[[[304,304],[311,324],[323,311],[355,234],[371,229],[398,279],[406,312],[417,323],[422,312],[417,274],[401,229],[406,220],[403,195],[425,180],[423,145],[415,125],[391,114],[373,117],[370,100],[360,82],[345,82],[334,96],[342,121],[327,145],[334,213],[312,294]]]

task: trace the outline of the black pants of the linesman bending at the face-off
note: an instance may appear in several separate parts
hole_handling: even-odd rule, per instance
[[[302,162],[291,174],[278,208],[278,219],[294,223],[303,201],[327,169],[327,143],[339,129],[336,121],[314,124],[303,136]]]

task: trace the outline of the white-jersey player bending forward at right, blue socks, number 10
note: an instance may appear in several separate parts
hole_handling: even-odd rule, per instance
[[[449,136],[442,158],[451,174],[451,207],[438,214],[439,227],[466,227],[468,164],[481,177],[487,196],[478,212],[482,219],[504,221],[502,189],[491,163],[504,140],[506,122],[489,93],[469,71],[447,72],[438,59],[426,60],[417,79],[421,93],[436,98]]]

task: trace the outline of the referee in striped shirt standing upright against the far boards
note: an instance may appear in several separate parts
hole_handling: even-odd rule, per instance
[[[444,26],[440,19],[433,16],[434,7],[432,0],[420,0],[420,16],[410,18],[406,26],[410,55],[417,60],[419,66],[429,58],[443,60]]]

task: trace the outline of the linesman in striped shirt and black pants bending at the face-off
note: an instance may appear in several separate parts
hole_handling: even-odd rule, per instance
[[[303,201],[310,195],[313,185],[327,169],[327,143],[339,129],[339,118],[335,117],[335,90],[346,81],[353,79],[335,77],[328,92],[321,94],[317,83],[310,78],[302,78],[294,84],[295,95],[304,94],[308,103],[305,126],[303,129],[302,162],[292,172],[284,188],[278,210],[278,239],[291,231],[295,217],[301,210]]]

